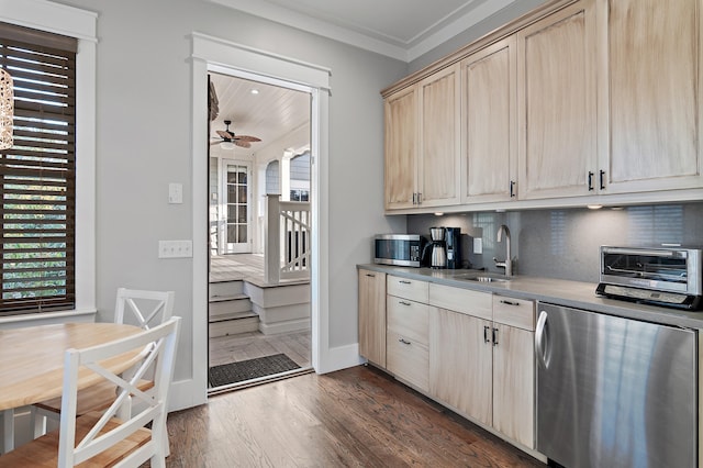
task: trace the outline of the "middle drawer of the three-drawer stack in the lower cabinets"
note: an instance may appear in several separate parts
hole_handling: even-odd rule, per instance
[[[429,335],[429,305],[388,296],[386,303],[388,331],[410,342],[427,346]]]

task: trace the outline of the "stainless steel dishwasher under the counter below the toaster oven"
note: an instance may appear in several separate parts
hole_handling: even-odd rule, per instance
[[[537,449],[579,467],[698,466],[692,330],[538,303]]]

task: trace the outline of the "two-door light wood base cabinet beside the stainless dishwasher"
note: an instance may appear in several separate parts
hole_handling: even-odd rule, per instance
[[[437,309],[429,320],[429,394],[534,448],[533,323],[532,301],[496,296],[492,321]]]

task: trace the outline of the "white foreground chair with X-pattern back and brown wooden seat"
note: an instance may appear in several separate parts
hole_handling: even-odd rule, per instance
[[[64,359],[59,430],[0,456],[0,466],[64,468],[87,461],[81,466],[140,467],[150,459],[152,467],[165,467],[168,389],[174,375],[179,327],[180,317],[175,316],[126,338],[83,349],[68,349]],[[129,380],[100,365],[105,359],[140,348],[143,348],[142,358]],[[144,392],[136,382],[149,369],[154,370],[154,387]],[[104,412],[78,415],[79,370],[81,376],[89,370],[116,386],[118,392],[113,393],[112,403]],[[127,398],[138,401],[144,409],[120,420],[115,414]],[[150,430],[145,427],[149,423]]]

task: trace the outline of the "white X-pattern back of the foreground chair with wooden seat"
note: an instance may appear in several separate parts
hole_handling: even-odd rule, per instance
[[[140,332],[136,335],[101,344],[83,349],[68,349],[64,363],[64,390],[62,398],[62,415],[59,431],[59,467],[72,467],[85,460],[101,456],[110,449],[115,449],[124,441],[132,444],[133,450],[121,458],[118,466],[138,467],[152,459],[152,466],[163,466],[165,457],[167,398],[174,375],[174,363],[180,317],[175,316],[167,322]],[[125,353],[142,350],[135,371],[129,378],[123,378],[107,369],[102,364],[108,359],[124,358]],[[148,368],[154,369],[154,387],[144,392],[136,387],[136,382]],[[116,393],[112,404],[102,415],[92,417],[87,426],[86,416],[77,420],[77,394],[79,375],[81,378],[96,374],[101,379],[109,380],[116,386]],[[115,414],[122,404],[130,399],[138,401],[144,409],[129,414],[124,420],[116,421]],[[90,421],[90,420],[89,420]],[[78,423],[77,423],[78,422]],[[150,438],[134,444],[135,434],[143,434],[144,426],[152,423]],[[77,431],[78,428],[78,431]],[[101,455],[102,454],[102,455]]]

